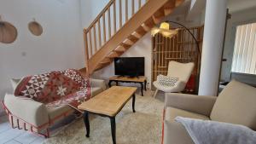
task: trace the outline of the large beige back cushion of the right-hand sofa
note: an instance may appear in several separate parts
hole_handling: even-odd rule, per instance
[[[231,81],[218,95],[210,118],[212,120],[242,124],[256,130],[256,89]]]

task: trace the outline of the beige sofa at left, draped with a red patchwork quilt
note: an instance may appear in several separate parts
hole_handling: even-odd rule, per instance
[[[18,82],[19,79],[12,80],[14,89]],[[106,89],[104,80],[92,78],[90,82],[92,96]],[[5,95],[3,107],[5,107],[13,128],[31,130],[46,137],[49,136],[50,126],[74,112],[73,108],[69,106],[48,109],[43,103],[10,94]]]

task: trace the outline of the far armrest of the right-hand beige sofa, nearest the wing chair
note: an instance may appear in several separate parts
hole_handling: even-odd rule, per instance
[[[165,107],[176,107],[189,112],[210,116],[216,96],[166,93]]]

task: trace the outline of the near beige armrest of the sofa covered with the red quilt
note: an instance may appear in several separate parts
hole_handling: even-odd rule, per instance
[[[36,127],[49,123],[47,108],[43,103],[6,94],[4,105],[13,115]]]

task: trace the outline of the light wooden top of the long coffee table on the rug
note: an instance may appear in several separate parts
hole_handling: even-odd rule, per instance
[[[125,106],[136,90],[135,87],[113,86],[89,101],[84,101],[79,105],[79,109],[113,117]]]

